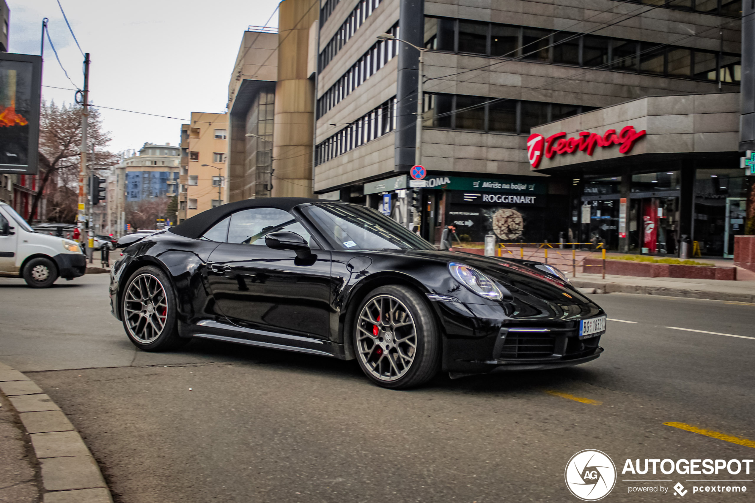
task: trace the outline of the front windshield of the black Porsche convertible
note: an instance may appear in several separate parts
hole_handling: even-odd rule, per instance
[[[418,235],[371,208],[320,203],[302,208],[334,250],[435,250]]]

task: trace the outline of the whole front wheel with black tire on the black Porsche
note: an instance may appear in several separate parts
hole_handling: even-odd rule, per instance
[[[382,321],[374,315],[381,312],[388,313],[379,315]],[[407,327],[414,330],[413,348]],[[384,388],[414,388],[440,370],[441,340],[435,318],[424,296],[409,287],[387,285],[372,290],[359,304],[351,337],[362,372]]]

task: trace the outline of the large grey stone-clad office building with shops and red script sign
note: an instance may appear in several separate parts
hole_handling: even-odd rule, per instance
[[[710,179],[704,170],[737,169],[742,177],[737,147],[722,147],[734,155],[695,157],[686,155],[694,149],[671,142],[664,148],[681,163],[673,169],[661,171],[638,157],[615,170],[618,161],[606,158],[590,164],[592,158],[575,152],[574,146],[571,154],[556,156],[560,164],[543,157],[535,166],[528,140],[533,133],[548,133],[545,140],[562,131],[580,137],[581,117],[616,131],[634,124],[639,132],[642,125],[648,136],[657,132],[660,137],[661,118],[640,124],[622,116],[626,111],[617,106],[655,96],[738,94],[740,11],[739,0],[323,0],[314,191],[376,208],[380,204],[396,219],[419,224],[421,235],[430,241],[437,242],[442,227],[455,222],[459,234],[471,241],[482,241],[487,234],[508,242],[559,237],[596,241],[609,240],[606,232],[615,232],[611,247],[628,250],[629,238],[618,237],[619,200],[600,203],[606,206],[599,208],[592,207],[592,200],[583,201],[601,195],[590,191],[605,180],[593,181],[609,178],[624,183],[625,195],[645,194],[652,190],[640,185],[651,184],[656,179],[652,173],[686,171],[692,174],[683,176],[685,189],[673,190],[686,190],[694,198],[695,184],[689,180]],[[378,38],[385,33],[402,41]],[[427,178],[414,183],[424,185],[421,189],[410,187],[409,173],[415,153],[419,51],[403,41],[425,49],[420,164]],[[731,114],[734,102],[736,98],[706,103],[718,103]],[[683,109],[678,101],[670,103]],[[720,130],[731,132],[728,119],[720,120]],[[569,127],[556,131],[558,125],[544,125],[559,121],[569,121]],[[716,134],[716,128],[704,132]],[[638,145],[646,140],[637,140]],[[697,153],[710,148],[700,145]],[[635,147],[634,152],[641,151]],[[636,191],[632,183],[639,184]],[[746,185],[747,180],[739,183]],[[669,184],[676,187],[676,182]],[[418,198],[417,218],[396,214],[395,208],[411,206],[411,198]],[[652,213],[655,207],[657,216],[661,203],[637,204],[637,214]],[[592,208],[587,222],[582,206]],[[723,241],[719,216],[716,213],[713,233]],[[670,233],[676,242],[682,238],[680,225],[670,225]],[[711,247],[710,254],[723,255],[723,248]],[[636,253],[676,249],[652,249],[639,241],[633,247]]]

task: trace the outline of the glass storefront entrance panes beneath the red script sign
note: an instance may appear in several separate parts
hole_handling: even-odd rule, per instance
[[[747,204],[744,174],[741,168],[695,169],[694,211],[685,218],[692,219],[691,225],[686,224],[686,233],[692,228],[690,238],[698,242],[700,256],[733,256],[734,236],[744,234]],[[629,252],[676,256],[683,228],[682,172],[669,170],[630,176],[626,216]],[[577,220],[576,211],[572,216],[572,222],[581,222],[581,239],[602,242],[608,250],[618,250],[621,176],[585,176],[581,193],[580,219]]]

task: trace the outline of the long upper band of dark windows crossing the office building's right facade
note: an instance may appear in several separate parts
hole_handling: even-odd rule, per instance
[[[499,23],[425,17],[425,47],[542,63],[738,83],[741,55]]]

